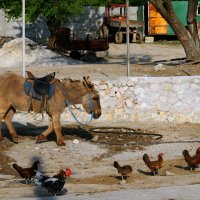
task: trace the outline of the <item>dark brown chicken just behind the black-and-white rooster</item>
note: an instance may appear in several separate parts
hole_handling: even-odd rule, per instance
[[[27,183],[27,180],[31,180],[31,178],[35,176],[35,170],[38,170],[39,164],[39,161],[35,161],[29,168],[22,168],[17,164],[13,164],[13,168],[19,173],[22,178],[26,180]]]

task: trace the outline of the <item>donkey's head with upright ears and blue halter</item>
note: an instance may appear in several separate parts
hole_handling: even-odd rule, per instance
[[[101,116],[100,97],[89,76],[83,77],[83,86],[86,93],[82,97],[82,105],[87,113],[93,114],[94,119],[97,119]]]

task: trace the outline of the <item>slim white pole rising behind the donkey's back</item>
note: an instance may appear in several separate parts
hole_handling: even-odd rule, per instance
[[[25,0],[22,0],[22,75],[25,77]]]

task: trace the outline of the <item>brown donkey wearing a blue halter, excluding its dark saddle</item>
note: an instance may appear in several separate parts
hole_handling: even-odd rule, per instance
[[[3,140],[1,125],[4,120],[13,141],[18,142],[18,135],[11,120],[16,110],[27,112],[30,108],[30,97],[24,92],[24,81],[22,76],[14,73],[0,75],[0,140]],[[49,116],[48,129],[37,136],[36,141],[45,140],[55,131],[57,144],[62,146],[65,143],[61,133],[60,117],[67,106],[66,99],[70,104],[82,104],[88,114],[93,113],[94,119],[101,116],[101,105],[99,94],[89,77],[83,77],[83,81],[71,79],[56,81],[55,86],[54,95],[48,100],[46,108]],[[32,99],[31,107],[34,112],[40,113],[41,101]]]

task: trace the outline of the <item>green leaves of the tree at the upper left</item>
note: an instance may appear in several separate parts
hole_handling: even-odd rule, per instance
[[[85,5],[99,5],[98,0],[25,0],[26,20],[34,22],[39,14],[62,22],[70,16],[81,14]],[[6,16],[19,18],[22,15],[22,0],[0,0],[0,9]]]

